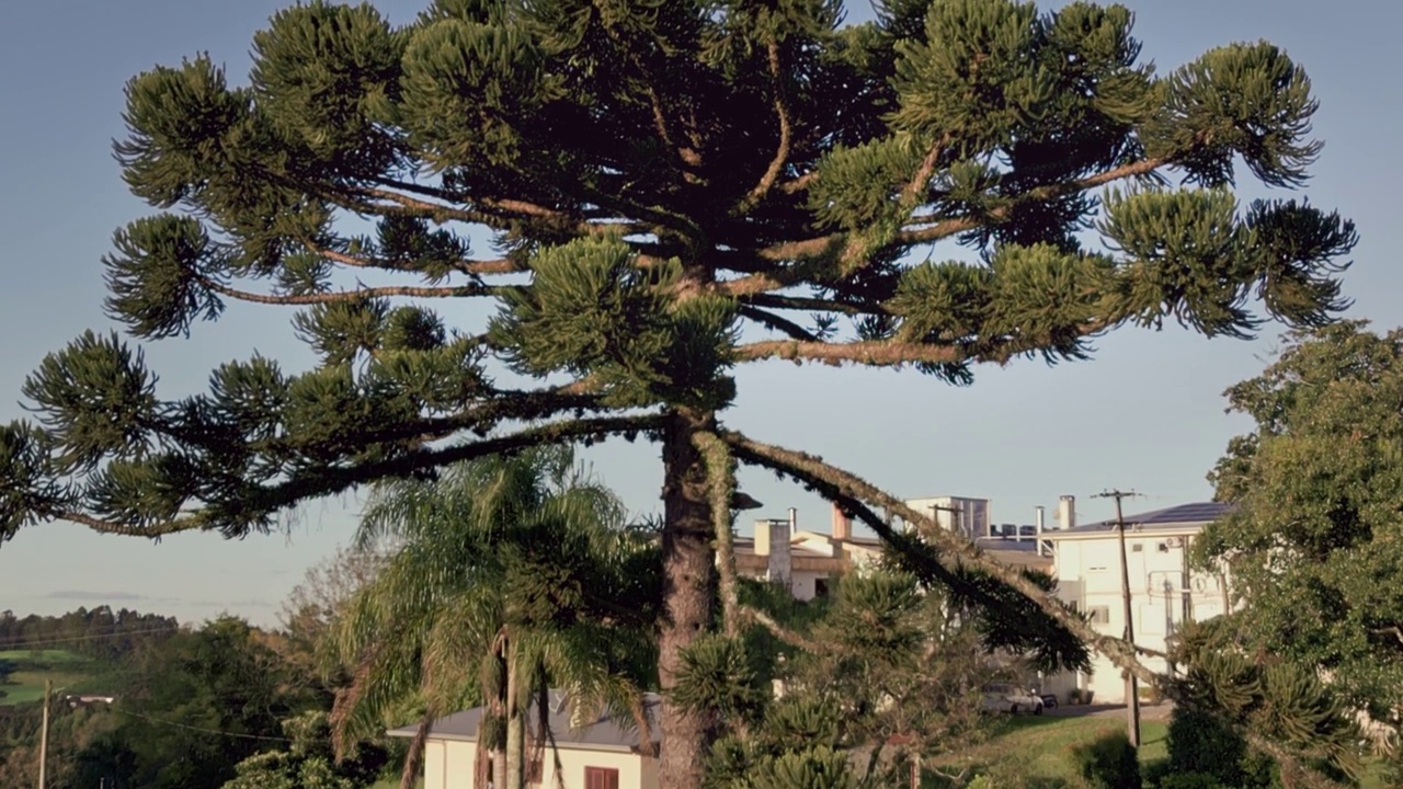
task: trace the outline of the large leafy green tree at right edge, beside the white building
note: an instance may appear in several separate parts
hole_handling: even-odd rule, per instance
[[[1254,430],[1211,475],[1236,510],[1198,545],[1226,567],[1249,654],[1329,677],[1351,708],[1395,727],[1403,708],[1403,331],[1348,321],[1292,333],[1228,390]]]

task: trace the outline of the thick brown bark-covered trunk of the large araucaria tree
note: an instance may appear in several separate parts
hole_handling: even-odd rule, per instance
[[[693,435],[709,427],[710,414],[678,410],[669,414],[662,439],[662,622],[658,635],[658,678],[664,702],[658,726],[662,757],[658,782],[668,789],[700,789],[703,760],[710,747],[706,716],[666,701],[682,670],[682,651],[711,625],[711,507],[707,501],[706,460]]]

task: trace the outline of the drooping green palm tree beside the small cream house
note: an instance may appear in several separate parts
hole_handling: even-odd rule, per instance
[[[495,786],[519,789],[528,710],[551,684],[581,722],[603,710],[640,720],[657,619],[645,601],[661,578],[655,543],[623,524],[617,497],[561,448],[376,487],[356,539],[393,548],[331,629],[333,656],[355,665],[333,715],[338,750],[417,696],[407,788],[429,723],[481,703],[478,758]]]

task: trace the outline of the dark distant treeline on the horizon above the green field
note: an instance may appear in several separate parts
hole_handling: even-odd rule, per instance
[[[62,616],[0,614],[0,651],[60,649],[100,660],[115,660],[142,644],[168,639],[180,629],[174,616],[140,614],[107,605],[79,608]]]

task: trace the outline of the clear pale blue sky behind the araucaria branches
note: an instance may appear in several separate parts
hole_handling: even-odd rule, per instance
[[[24,376],[84,329],[107,329],[100,260],[111,233],[150,209],[130,197],[109,143],[122,135],[122,86],[153,65],[209,52],[241,80],[251,34],[279,0],[10,3],[0,24],[0,420],[22,414]],[[1306,65],[1326,149],[1305,194],[1352,218],[1362,241],[1347,275],[1354,317],[1403,323],[1403,232],[1389,195],[1403,174],[1395,73],[1403,6],[1305,0],[1139,0],[1136,32],[1162,70],[1207,48],[1266,38]],[[377,3],[405,21],[417,1]],[[866,3],[853,18],[870,17]],[[1266,194],[1244,187],[1244,198]],[[147,348],[161,393],[202,386],[212,365],[251,351],[288,366],[310,362],[290,313],[233,307],[189,340]],[[1079,517],[1107,514],[1089,494],[1135,489],[1132,510],[1201,500],[1205,472],[1246,428],[1223,414],[1222,390],[1263,366],[1280,327],[1257,341],[1202,340],[1177,329],[1128,329],[1090,362],[1017,362],[954,389],[915,373],[770,362],[739,372],[728,424],[763,441],[838,462],[904,497],[979,496],[998,522],[1030,522],[1063,493]],[[655,446],[609,445],[588,455],[640,514],[661,510]],[[763,472],[741,484],[781,517],[826,528],[828,508]],[[159,545],[52,524],[0,548],[0,609],[62,612],[109,602],[199,619],[220,611],[272,622],[309,564],[344,543],[356,500],[317,503],[281,533],[223,541],[182,535]],[[742,526],[744,528],[744,526]]]

